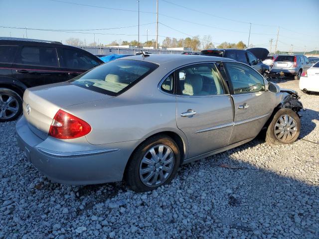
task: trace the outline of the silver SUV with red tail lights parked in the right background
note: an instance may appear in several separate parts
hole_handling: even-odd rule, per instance
[[[280,55],[274,61],[274,65],[271,68],[270,76],[285,76],[295,77],[295,80],[299,80],[303,71],[306,71],[311,64],[304,55]]]

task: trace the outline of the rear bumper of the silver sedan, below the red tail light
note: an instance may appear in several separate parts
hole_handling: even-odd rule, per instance
[[[53,182],[83,185],[121,181],[134,148],[142,140],[91,145],[37,137],[22,116],[16,124],[17,142],[31,163]]]

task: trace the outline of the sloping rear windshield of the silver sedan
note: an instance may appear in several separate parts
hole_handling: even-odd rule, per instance
[[[99,93],[117,96],[138,83],[157,67],[157,64],[146,61],[115,60],[73,78],[69,83]]]

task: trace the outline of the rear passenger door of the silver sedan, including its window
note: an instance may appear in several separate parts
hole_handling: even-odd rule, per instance
[[[188,140],[188,158],[228,144],[233,106],[214,63],[176,70],[176,120]]]

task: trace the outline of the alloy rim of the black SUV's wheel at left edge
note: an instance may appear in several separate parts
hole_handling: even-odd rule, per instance
[[[19,104],[15,97],[0,94],[0,119],[13,118],[19,112]]]

